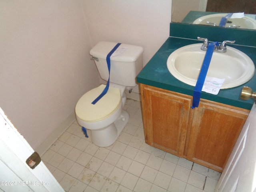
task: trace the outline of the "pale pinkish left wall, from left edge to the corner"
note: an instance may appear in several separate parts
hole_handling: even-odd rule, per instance
[[[0,107],[37,148],[99,83],[79,0],[0,1]]]

